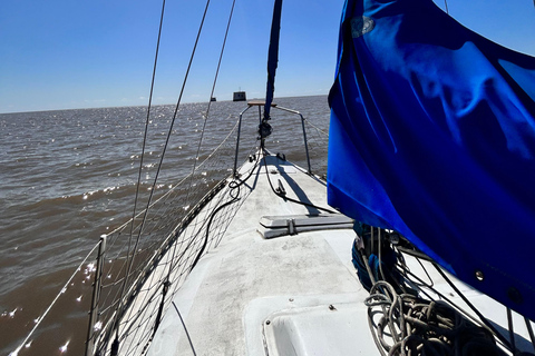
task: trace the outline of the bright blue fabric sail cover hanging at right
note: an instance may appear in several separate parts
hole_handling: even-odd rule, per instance
[[[534,100],[534,58],[432,1],[348,0],[329,204],[535,319]]]

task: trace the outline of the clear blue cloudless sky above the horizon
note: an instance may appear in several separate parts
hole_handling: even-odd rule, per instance
[[[159,21],[155,0],[0,3],[0,112],[146,105]],[[204,1],[167,0],[155,103],[174,103]],[[444,0],[436,0],[444,8]],[[212,0],[184,102],[208,99],[232,0]],[[325,95],[343,0],[284,0],[275,96]],[[215,96],[264,97],[272,1],[236,0]],[[535,55],[533,0],[449,0],[473,30]]]

